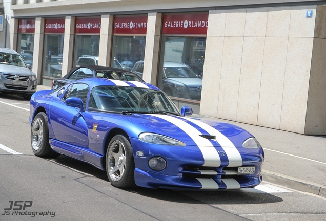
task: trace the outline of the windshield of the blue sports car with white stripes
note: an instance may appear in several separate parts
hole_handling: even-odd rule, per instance
[[[161,91],[129,86],[97,86],[91,91],[90,110],[158,113],[180,116],[175,104]]]

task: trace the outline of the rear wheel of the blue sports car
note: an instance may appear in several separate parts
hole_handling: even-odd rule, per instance
[[[38,157],[56,157],[59,155],[50,147],[48,117],[44,112],[38,113],[33,120],[31,145],[34,154]]]

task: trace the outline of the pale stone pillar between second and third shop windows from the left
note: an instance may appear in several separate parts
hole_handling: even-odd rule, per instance
[[[67,16],[65,22],[62,76],[65,76],[70,71],[73,65],[74,34],[75,34],[75,17]]]

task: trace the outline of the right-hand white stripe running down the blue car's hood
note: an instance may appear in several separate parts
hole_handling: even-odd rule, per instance
[[[210,135],[216,136],[216,141],[221,145],[223,150],[228,156],[229,159],[229,167],[237,167],[242,166],[242,158],[239,153],[239,150],[234,146],[234,144],[220,131],[215,129],[214,127],[203,123],[199,120],[187,118],[187,120],[191,121],[192,123],[200,126],[202,129],[206,130]]]

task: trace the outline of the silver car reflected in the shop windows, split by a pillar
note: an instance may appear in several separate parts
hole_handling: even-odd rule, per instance
[[[131,72],[142,77],[144,60],[135,63]],[[165,61],[161,90],[168,96],[200,100],[202,79],[187,64]]]

